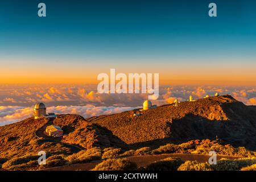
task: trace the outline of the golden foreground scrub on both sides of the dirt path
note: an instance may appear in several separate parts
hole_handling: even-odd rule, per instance
[[[205,144],[206,143],[206,144]],[[204,146],[205,150],[201,150]],[[218,147],[217,147],[218,146]],[[255,152],[247,150],[241,150],[241,148],[234,148],[232,146],[222,146],[216,141],[210,140],[193,140],[182,144],[167,144],[160,146],[155,150],[150,150],[149,147],[142,147],[138,150],[129,150],[121,152],[121,148],[108,147],[101,150],[99,147],[93,147],[88,150],[81,150],[71,155],[52,155],[47,153],[47,164],[44,166],[38,166],[37,155],[25,155],[18,158],[12,158],[10,160],[0,159],[2,168],[7,170],[20,170],[20,169],[42,169],[56,166],[63,166],[76,163],[86,163],[101,159],[114,159],[104,160],[94,170],[114,170],[114,169],[137,169],[131,165],[127,160],[118,159],[123,156],[138,156],[138,155],[151,155],[151,154],[166,154],[166,153],[196,153],[208,154],[209,150],[214,148],[225,148],[227,155],[232,156],[250,156],[250,158],[242,158],[236,160],[221,159],[216,165],[209,165],[208,163],[199,163],[197,161],[183,162],[177,158],[166,158],[160,161],[149,164],[143,170],[155,170],[155,171],[221,171],[221,170],[253,170],[255,169],[256,158]],[[198,150],[200,148],[200,150]],[[232,152],[230,152],[232,151]],[[222,151],[223,152],[223,151]],[[118,159],[118,160],[117,160]],[[112,163],[113,162],[113,163]],[[130,168],[132,167],[132,168]]]

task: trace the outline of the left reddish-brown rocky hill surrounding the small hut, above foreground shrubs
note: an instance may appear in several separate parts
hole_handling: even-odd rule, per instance
[[[52,138],[44,135],[43,131],[52,124],[62,127],[65,136]],[[69,155],[97,146],[125,147],[110,131],[75,114],[58,115],[53,121],[31,117],[0,127],[0,159],[37,155],[39,151]]]

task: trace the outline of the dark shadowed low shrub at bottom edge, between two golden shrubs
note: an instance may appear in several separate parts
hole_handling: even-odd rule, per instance
[[[177,168],[183,164],[183,160],[179,158],[166,158],[158,162],[148,164],[148,171],[177,171]]]

